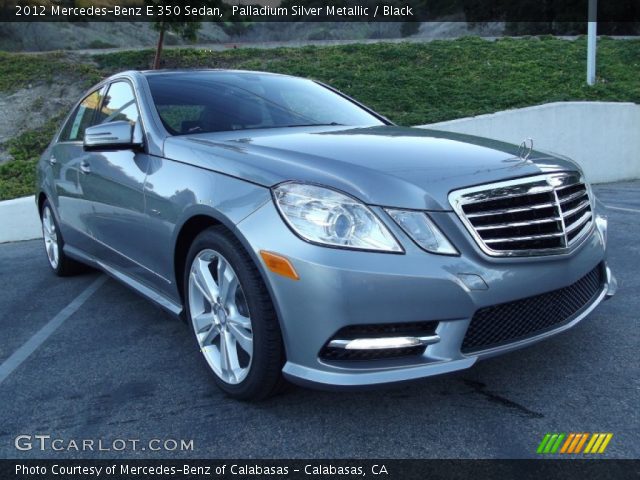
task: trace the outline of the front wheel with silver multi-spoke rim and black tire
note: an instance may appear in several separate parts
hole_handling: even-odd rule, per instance
[[[242,244],[223,227],[200,233],[183,286],[187,322],[218,387],[252,401],[279,391],[285,355],[278,318]]]

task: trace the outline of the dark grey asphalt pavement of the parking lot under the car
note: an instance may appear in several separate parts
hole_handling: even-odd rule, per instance
[[[30,355],[0,377],[0,458],[522,458],[547,432],[611,432],[604,456],[639,458],[640,182],[596,191],[620,288],[575,328],[454,374],[257,404],[215,387],[181,321],[103,274],[55,277],[40,241],[2,244],[0,369]]]

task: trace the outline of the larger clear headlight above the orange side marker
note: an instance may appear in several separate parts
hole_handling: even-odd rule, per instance
[[[287,224],[309,242],[357,250],[403,251],[368,207],[335,190],[283,183],[273,189],[273,197]]]

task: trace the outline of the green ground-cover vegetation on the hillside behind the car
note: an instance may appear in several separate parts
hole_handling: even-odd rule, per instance
[[[147,69],[152,58],[152,50],[93,56],[0,53],[0,95],[61,81],[88,87],[121,70]],[[164,54],[164,66],[252,69],[310,77],[335,86],[401,125],[564,100],[640,103],[640,40],[600,39],[598,82],[593,87],[585,83],[585,58],[584,38],[494,42],[463,38],[222,52],[172,49]],[[5,143],[14,160],[0,165],[0,199],[32,191],[33,163],[62,114],[48,113],[51,120],[42,128]]]

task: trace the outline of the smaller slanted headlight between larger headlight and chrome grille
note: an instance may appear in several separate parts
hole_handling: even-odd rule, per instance
[[[391,215],[404,232],[418,244],[419,247],[431,253],[442,255],[457,255],[447,237],[436,227],[426,213],[409,210],[389,210]]]

